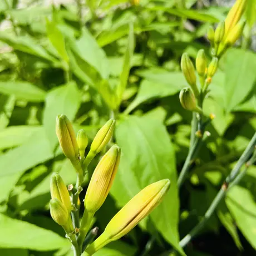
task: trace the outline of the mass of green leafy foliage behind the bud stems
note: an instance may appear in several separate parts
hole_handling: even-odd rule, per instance
[[[76,179],[57,143],[58,114],[85,129],[90,142],[110,117],[117,120],[121,164],[95,216],[100,232],[146,185],[171,180],[139,227],[95,255],[181,252],[180,238],[204,215],[256,129],[256,1],[247,1],[242,40],[221,58],[204,103],[216,118],[179,195],[191,121],[179,103],[186,86],[180,57],[203,48],[210,60],[206,30],[229,7],[206,0],[0,2],[0,254],[72,255],[48,210],[52,171],[66,184]],[[187,255],[255,255],[255,172],[252,166],[230,191]]]

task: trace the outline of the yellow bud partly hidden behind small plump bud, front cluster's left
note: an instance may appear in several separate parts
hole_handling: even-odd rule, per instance
[[[57,198],[66,206],[68,212],[71,212],[71,200],[67,187],[58,173],[53,173],[50,180],[51,198]]]

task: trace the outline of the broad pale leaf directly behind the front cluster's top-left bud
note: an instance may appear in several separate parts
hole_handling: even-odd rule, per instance
[[[56,116],[65,114],[72,121],[80,104],[81,94],[75,82],[54,88],[47,93],[46,106],[43,112],[43,126],[52,150],[55,149],[58,141],[55,131]]]

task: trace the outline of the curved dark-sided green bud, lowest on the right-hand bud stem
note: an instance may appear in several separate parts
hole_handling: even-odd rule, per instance
[[[179,97],[180,104],[184,107],[184,109],[201,112],[201,109],[196,105],[195,95],[189,87],[183,88],[180,91]]]

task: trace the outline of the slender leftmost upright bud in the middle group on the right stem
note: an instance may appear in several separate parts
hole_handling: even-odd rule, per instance
[[[186,78],[186,81],[189,83],[193,89],[195,95],[198,95],[198,88],[196,87],[196,77],[195,77],[195,68],[192,61],[189,58],[188,53],[183,53],[181,56],[181,70]]]

